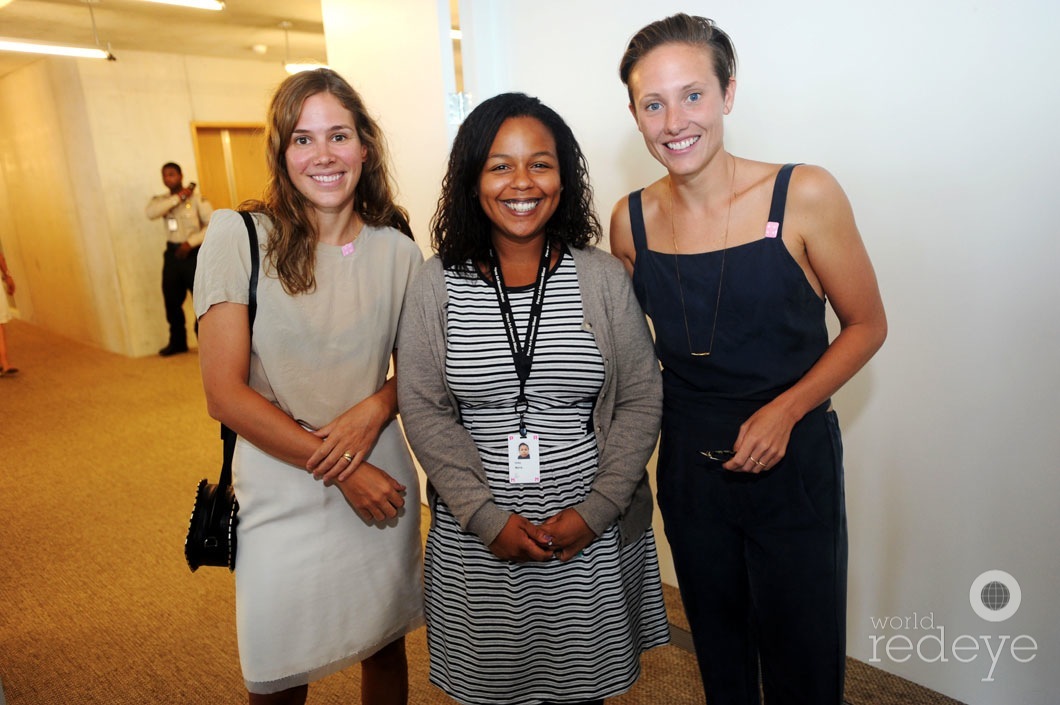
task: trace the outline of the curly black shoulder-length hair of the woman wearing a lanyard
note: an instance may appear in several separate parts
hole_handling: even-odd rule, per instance
[[[430,219],[431,245],[446,268],[489,259],[492,225],[478,200],[478,182],[500,125],[511,118],[533,118],[555,139],[560,161],[560,205],[546,224],[554,244],[581,249],[600,239],[602,228],[593,208],[585,155],[575,134],[555,110],[525,93],[501,93],[472,110],[460,125],[442,194]]]

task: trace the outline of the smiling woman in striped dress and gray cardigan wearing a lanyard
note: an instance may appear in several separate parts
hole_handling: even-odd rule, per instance
[[[399,400],[429,479],[430,680],[461,703],[599,703],[669,638],[646,463],[658,363],[552,109],[461,126],[402,314]],[[520,452],[520,446],[526,448]]]

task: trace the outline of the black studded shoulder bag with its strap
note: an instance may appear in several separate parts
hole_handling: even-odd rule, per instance
[[[247,317],[253,335],[254,314],[258,312],[258,233],[250,213],[241,212],[250,239],[250,298]],[[220,479],[210,484],[199,480],[195,491],[195,506],[184,539],[184,558],[194,572],[200,565],[227,566],[235,569],[235,526],[240,523],[240,503],[232,490],[232,455],[235,453],[235,431],[220,424],[220,438],[225,442],[225,459],[220,465]]]

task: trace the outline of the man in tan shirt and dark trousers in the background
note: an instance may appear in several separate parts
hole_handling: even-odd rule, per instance
[[[195,182],[183,184],[180,165],[172,161],[162,165],[162,183],[167,194],[155,196],[147,204],[147,217],[163,218],[165,254],[162,258],[162,298],[165,320],[170,323],[170,342],[158,351],[167,357],[188,352],[188,330],[184,325],[184,297],[195,282],[198,247],[206,236],[213,207],[195,191]]]

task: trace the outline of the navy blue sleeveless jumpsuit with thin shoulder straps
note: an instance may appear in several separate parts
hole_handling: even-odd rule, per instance
[[[722,252],[648,249],[640,192],[630,194],[634,289],[664,367],[658,501],[710,705],[757,704],[759,667],[768,705],[843,698],[847,532],[830,404],[795,424],[784,458],[761,474],[701,455],[731,448],[828,347],[825,302],[782,242],[792,169],[777,176],[763,236],[725,253],[709,356],[691,355],[688,338],[710,346]]]

